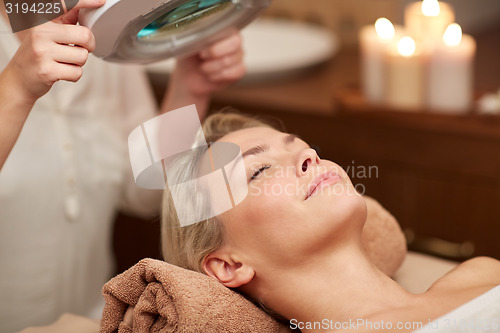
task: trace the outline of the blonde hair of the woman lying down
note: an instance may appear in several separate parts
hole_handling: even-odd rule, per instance
[[[208,143],[240,129],[272,127],[256,117],[245,116],[225,109],[206,118],[203,132]],[[168,189],[163,194],[161,243],[166,262],[204,273],[203,259],[224,241],[224,229],[217,217],[196,224],[180,227],[172,195]]]

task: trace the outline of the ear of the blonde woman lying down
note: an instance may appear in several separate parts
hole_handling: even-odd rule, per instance
[[[224,250],[210,253],[203,260],[203,270],[228,288],[237,288],[249,283],[255,271],[249,265],[231,258]]]

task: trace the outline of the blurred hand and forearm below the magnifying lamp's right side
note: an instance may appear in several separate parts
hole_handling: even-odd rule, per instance
[[[245,71],[242,39],[238,32],[194,56],[178,59],[161,112],[195,104],[203,119],[211,94],[242,78]]]

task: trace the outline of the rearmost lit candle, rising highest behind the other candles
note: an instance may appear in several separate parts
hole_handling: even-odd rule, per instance
[[[446,27],[455,21],[453,8],[437,0],[413,2],[405,9],[408,34],[417,43],[422,43],[424,52],[431,52],[441,41]]]

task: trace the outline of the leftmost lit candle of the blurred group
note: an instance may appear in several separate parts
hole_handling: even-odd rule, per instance
[[[379,18],[375,25],[365,26],[359,33],[363,95],[371,103],[383,101],[384,56],[401,30],[388,19]]]

